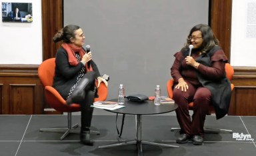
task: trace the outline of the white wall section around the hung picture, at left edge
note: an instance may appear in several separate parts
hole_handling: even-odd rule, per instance
[[[40,64],[43,59],[41,0],[0,0],[0,2],[33,5],[32,23],[3,23],[1,19],[0,64]],[[1,11],[0,17],[2,17]]]

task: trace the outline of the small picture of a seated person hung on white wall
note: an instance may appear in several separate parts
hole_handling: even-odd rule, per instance
[[[3,22],[33,22],[32,3],[2,2]]]

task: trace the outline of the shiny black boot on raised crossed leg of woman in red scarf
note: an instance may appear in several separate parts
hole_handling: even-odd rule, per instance
[[[95,73],[93,71],[88,72],[84,77],[77,83],[75,90],[71,96],[66,100],[67,105],[71,103],[79,103],[85,98],[85,90],[89,89],[91,85],[94,85]]]

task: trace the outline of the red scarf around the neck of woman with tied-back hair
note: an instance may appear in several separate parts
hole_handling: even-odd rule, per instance
[[[66,51],[67,51],[67,56],[69,58],[69,64],[72,66],[77,66],[77,64],[79,63],[77,61],[77,57],[75,57],[75,52],[79,52],[79,55],[81,58],[83,58],[83,55],[85,55],[85,51],[83,50],[82,47],[77,47],[73,44],[68,44],[68,43],[62,43],[61,45]],[[93,71],[93,68],[88,67],[87,63],[85,63],[85,68],[87,71]]]

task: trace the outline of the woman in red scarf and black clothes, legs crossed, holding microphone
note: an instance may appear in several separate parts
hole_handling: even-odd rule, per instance
[[[67,105],[81,105],[81,143],[93,145],[89,139],[91,119],[93,116],[93,101],[97,97],[97,88],[101,82],[107,86],[107,81],[100,76],[97,65],[92,60],[91,51],[83,49],[85,35],[77,25],[67,25],[58,31],[53,41],[63,41],[55,57],[55,77],[53,87],[66,99]],[[90,63],[89,63],[90,62]]]

